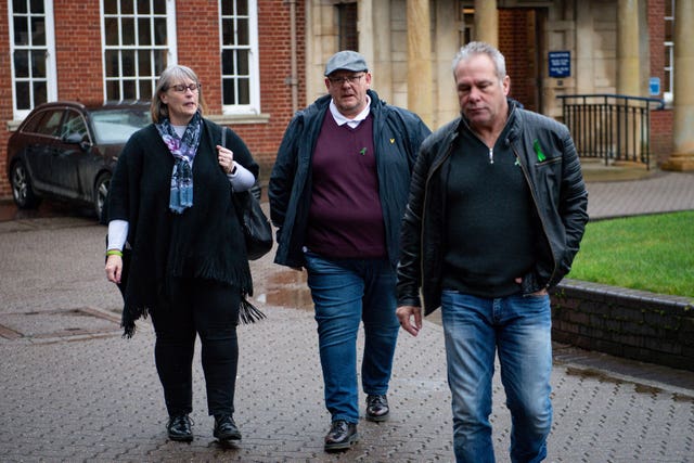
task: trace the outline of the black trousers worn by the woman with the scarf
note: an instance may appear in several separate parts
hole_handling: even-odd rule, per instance
[[[233,414],[239,290],[200,279],[181,279],[172,286],[171,306],[152,313],[156,333],[154,358],[169,416],[193,411],[196,335],[202,344],[208,413]]]

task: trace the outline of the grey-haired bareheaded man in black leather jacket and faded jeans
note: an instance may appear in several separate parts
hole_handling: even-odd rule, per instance
[[[501,363],[511,460],[547,455],[552,423],[548,288],[570,270],[588,193],[567,128],[507,98],[503,55],[471,42],[453,60],[461,117],[428,137],[401,229],[398,309],[416,336],[441,308],[453,447],[493,461],[491,378]]]

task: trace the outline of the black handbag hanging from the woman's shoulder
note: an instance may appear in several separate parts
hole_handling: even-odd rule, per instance
[[[221,145],[226,146],[227,128],[221,130]],[[260,185],[258,181],[249,191],[231,193],[239,222],[246,241],[248,260],[257,260],[272,249],[272,226],[260,207]]]

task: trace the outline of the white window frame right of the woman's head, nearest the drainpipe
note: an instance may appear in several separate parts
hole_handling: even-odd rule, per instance
[[[222,66],[222,51],[224,49],[233,50],[234,47],[223,43],[221,2],[219,1],[219,68]],[[260,66],[258,64],[258,2],[257,0],[248,1],[248,104],[224,104],[223,102],[223,75],[219,76],[220,99],[222,114],[227,115],[259,115],[260,114]],[[229,76],[233,77],[233,76]]]

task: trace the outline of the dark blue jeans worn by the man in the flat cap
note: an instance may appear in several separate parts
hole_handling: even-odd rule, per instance
[[[327,259],[306,252],[316,309],[325,407],[332,420],[359,421],[357,333],[364,324],[364,394],[388,391],[400,325],[395,269],[388,259]]]

